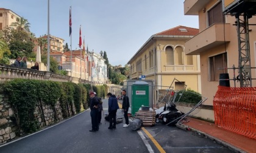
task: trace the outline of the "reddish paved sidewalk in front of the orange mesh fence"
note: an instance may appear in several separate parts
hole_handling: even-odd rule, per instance
[[[204,134],[206,137],[216,140],[218,143],[229,147],[235,152],[256,152],[256,140],[247,138],[235,132],[227,131],[203,120],[187,117],[190,121],[183,123],[191,128],[192,131],[197,131]]]

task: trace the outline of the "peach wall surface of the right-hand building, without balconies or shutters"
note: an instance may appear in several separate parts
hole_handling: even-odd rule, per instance
[[[207,10],[210,10],[213,5],[218,3],[218,1],[210,1],[206,7],[206,12],[199,12],[199,32],[204,31],[207,29]],[[241,19],[243,16],[241,16]],[[236,32],[235,24],[235,16],[227,15],[225,17],[226,23],[230,23],[229,33],[226,31],[226,35],[229,36],[230,41],[222,44],[220,46],[213,47],[212,49],[205,49],[203,52],[200,53],[200,65],[201,65],[201,84],[202,84],[202,95],[207,97],[208,100],[205,101],[204,104],[206,105],[213,105],[213,97],[218,90],[219,81],[209,81],[209,61],[208,58],[210,56],[218,55],[220,53],[227,52],[227,67],[232,68],[233,65],[238,67],[238,34]],[[253,16],[249,19],[249,24],[256,24],[256,18]],[[249,39],[250,39],[250,52],[251,52],[251,67],[256,67],[255,59],[256,59],[256,27],[253,25],[249,26],[251,32],[249,32]],[[193,38],[192,38],[193,39]],[[204,38],[201,38],[204,40]],[[229,78],[233,78],[233,70],[229,69]],[[255,69],[252,69],[252,78],[256,78]],[[235,70],[235,77],[238,75],[238,69]],[[234,86],[233,81],[230,81],[230,86]],[[252,80],[252,86],[256,86],[256,81]],[[236,87],[240,87],[240,84],[236,82]]]

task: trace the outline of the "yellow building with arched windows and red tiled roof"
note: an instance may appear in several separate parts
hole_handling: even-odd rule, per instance
[[[197,35],[198,29],[177,26],[152,35],[135,55],[128,61],[130,78],[139,79],[145,75],[146,80],[155,80],[155,98],[158,90],[184,89],[187,84],[190,89],[201,92],[201,77],[198,55],[185,55],[185,42]],[[155,99],[156,101],[156,99]]]

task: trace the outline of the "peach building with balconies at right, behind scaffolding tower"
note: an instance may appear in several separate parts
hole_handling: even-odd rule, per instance
[[[230,1],[231,2],[231,1]],[[218,90],[219,74],[229,73],[229,78],[238,76],[238,69],[219,69],[238,67],[238,33],[235,16],[222,15],[222,1],[186,0],[185,15],[199,16],[199,34],[185,43],[186,55],[200,55],[202,95],[207,97],[205,105],[213,106],[213,97]],[[243,16],[241,16],[243,19]],[[256,24],[255,16],[249,18],[249,24]],[[249,26],[249,43],[251,49],[251,67],[256,67],[256,26]],[[252,69],[252,78],[256,78]],[[230,81],[230,86],[240,87],[240,83]],[[255,87],[256,81],[252,80]]]

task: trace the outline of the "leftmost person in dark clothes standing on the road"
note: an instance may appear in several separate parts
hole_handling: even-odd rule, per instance
[[[98,123],[98,98],[95,97],[94,92],[89,93],[91,101],[90,101],[90,109],[91,109],[91,130],[90,132],[99,131],[99,123]]]

